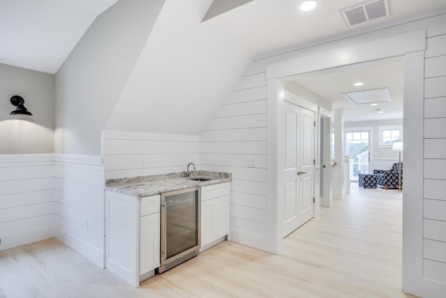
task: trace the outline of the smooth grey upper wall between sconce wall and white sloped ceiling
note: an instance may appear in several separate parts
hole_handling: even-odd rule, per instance
[[[118,1],[84,33],[56,73],[56,153],[100,155],[100,133],[163,4]]]

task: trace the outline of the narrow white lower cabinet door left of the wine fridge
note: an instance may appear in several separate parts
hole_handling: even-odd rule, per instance
[[[160,267],[160,213],[141,216],[139,274]]]

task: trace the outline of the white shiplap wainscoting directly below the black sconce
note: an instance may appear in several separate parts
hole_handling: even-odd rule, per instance
[[[52,155],[0,155],[0,250],[54,236]]]

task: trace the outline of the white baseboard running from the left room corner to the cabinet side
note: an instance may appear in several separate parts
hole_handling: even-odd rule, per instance
[[[56,229],[57,239],[66,244],[66,246],[72,248],[74,251],[77,251],[77,253],[83,255],[85,258],[91,260],[91,262],[105,268],[105,251],[100,251],[98,248],[91,246],[85,241],[82,241],[81,239],[64,230],[61,230],[60,228],[54,228]]]

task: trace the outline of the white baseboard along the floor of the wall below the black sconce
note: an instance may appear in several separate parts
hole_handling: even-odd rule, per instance
[[[54,225],[47,225],[42,228],[27,230],[16,234],[8,234],[1,236],[0,251],[32,242],[52,238],[56,235]]]

